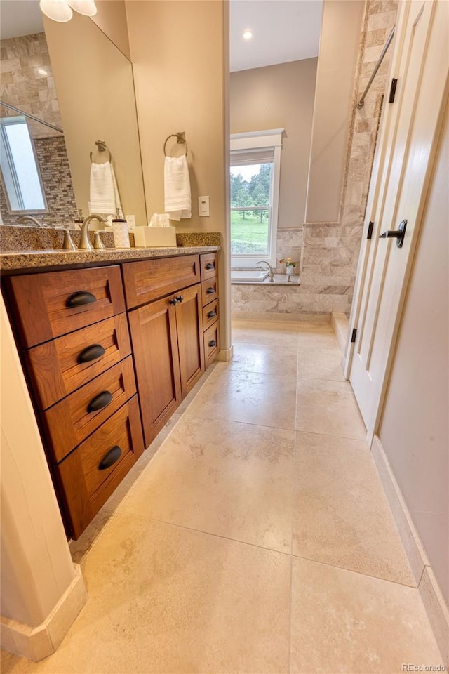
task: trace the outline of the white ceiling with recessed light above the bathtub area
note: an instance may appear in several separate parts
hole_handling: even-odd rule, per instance
[[[318,56],[322,8],[322,0],[231,0],[231,71]]]

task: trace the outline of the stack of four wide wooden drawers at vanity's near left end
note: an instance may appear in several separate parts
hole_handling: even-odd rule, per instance
[[[120,267],[4,286],[67,534],[78,538],[144,449]]]

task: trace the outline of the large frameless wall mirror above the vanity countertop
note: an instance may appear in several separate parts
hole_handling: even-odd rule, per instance
[[[92,153],[95,162],[106,161],[107,152],[98,152],[95,145],[96,140],[105,140],[112,155],[123,211],[134,215],[136,224],[145,225],[145,193],[130,61],[93,20],[75,12],[72,20],[65,24],[44,17],[40,30],[39,27],[27,29],[25,22],[30,11],[36,9],[39,12],[36,0],[20,3],[1,0],[2,25],[9,14],[15,25],[8,27],[8,33],[2,27],[0,98],[51,124],[39,124],[20,112],[0,106],[2,157],[8,155],[11,159],[10,148],[4,152],[8,136],[12,139],[12,148],[20,129],[22,135],[29,134],[29,140],[25,138],[22,145],[28,142],[28,161],[32,161],[33,155],[36,160],[34,194],[39,192],[39,187],[42,191],[41,201],[36,196],[37,201],[29,201],[29,195],[21,194],[20,190],[15,197],[11,184],[20,187],[19,179],[23,175],[22,183],[30,185],[29,169],[17,166],[16,170],[13,165],[11,176],[3,161],[2,222],[17,224],[20,216],[28,213],[48,225],[67,225],[74,220],[76,209],[82,209],[86,216],[90,201],[90,155]],[[40,13],[37,16],[41,18]],[[62,128],[63,133],[55,128]],[[15,151],[15,157],[23,155],[22,150]]]

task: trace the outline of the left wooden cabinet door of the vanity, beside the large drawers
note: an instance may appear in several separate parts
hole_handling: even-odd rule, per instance
[[[175,305],[163,298],[130,311],[129,324],[148,447],[181,402]]]

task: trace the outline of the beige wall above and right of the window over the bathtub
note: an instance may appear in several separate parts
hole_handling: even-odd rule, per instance
[[[231,133],[285,128],[278,227],[304,223],[316,58],[231,73]]]

